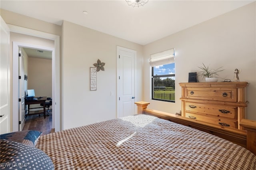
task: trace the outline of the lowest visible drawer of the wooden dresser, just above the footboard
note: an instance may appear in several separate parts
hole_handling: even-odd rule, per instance
[[[235,121],[235,120],[232,121],[232,120],[225,119],[225,118],[210,117],[210,116],[206,116],[206,115],[200,115],[200,114],[189,113],[189,112],[186,112],[185,117],[188,117],[190,119],[195,119],[198,121],[213,123],[213,124],[220,125],[220,126],[237,128],[237,121]]]

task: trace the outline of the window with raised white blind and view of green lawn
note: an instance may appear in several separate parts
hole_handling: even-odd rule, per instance
[[[152,99],[175,102],[174,49],[150,56],[152,68]]]

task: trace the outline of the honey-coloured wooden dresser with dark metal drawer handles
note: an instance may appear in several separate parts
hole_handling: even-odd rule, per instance
[[[243,129],[247,82],[179,83],[181,115],[219,126]]]

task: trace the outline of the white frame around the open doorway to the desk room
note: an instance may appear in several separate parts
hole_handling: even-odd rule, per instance
[[[14,26],[7,24],[10,28],[10,32],[24,34],[28,36],[34,36],[54,41],[54,48],[52,53],[52,98],[55,99],[52,105],[52,109],[55,109],[55,120],[52,120],[52,128],[55,128],[55,132],[60,131],[60,36],[40,32],[20,26]],[[23,44],[24,45],[24,44]],[[28,44],[25,44],[28,45]],[[34,45],[36,46],[36,45]],[[12,131],[18,131],[19,117],[18,117],[18,45],[13,44],[12,53]],[[16,48],[16,49],[15,49]],[[48,47],[49,48],[49,47]],[[15,50],[14,50],[15,49]],[[17,99],[17,100],[15,100]],[[55,104],[55,105],[54,105]]]

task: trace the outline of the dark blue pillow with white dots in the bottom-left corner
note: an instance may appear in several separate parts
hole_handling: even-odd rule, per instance
[[[0,150],[1,169],[54,170],[51,158],[38,148],[1,139]]]

